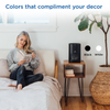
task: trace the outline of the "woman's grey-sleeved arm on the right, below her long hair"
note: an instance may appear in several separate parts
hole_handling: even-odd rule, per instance
[[[34,51],[34,50],[33,50]],[[38,67],[40,62],[38,62],[38,56],[36,54],[36,52],[34,51],[35,57],[32,58],[32,61],[29,63],[29,65],[31,66],[31,68],[35,69]]]

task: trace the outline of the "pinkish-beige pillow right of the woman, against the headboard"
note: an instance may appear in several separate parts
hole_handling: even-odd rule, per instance
[[[38,56],[38,62],[40,62],[40,65],[37,68],[34,69],[33,74],[43,74],[43,76],[45,76],[45,69],[44,69],[44,64],[41,59],[41,57]]]

